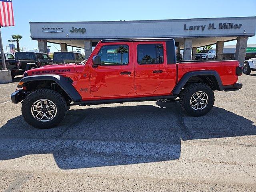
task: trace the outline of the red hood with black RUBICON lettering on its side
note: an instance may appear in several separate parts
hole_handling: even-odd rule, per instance
[[[28,76],[39,74],[65,74],[74,72],[75,66],[76,64],[46,65],[26,72],[28,73]]]

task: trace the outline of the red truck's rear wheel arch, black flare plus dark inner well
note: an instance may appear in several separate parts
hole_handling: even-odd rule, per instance
[[[203,82],[210,86],[212,90],[224,90],[222,81],[218,72],[214,70],[204,70],[204,71],[192,71],[186,73],[175,86],[172,94],[178,95],[182,88],[186,86],[186,84]]]

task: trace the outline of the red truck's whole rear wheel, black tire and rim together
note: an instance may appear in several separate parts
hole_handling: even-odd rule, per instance
[[[203,116],[212,109],[214,99],[214,92],[208,85],[194,83],[180,94],[180,107],[189,115]]]

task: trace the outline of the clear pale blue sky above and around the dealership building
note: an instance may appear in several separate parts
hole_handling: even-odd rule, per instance
[[[115,21],[256,16],[256,0],[12,0],[14,27],[1,29],[4,50],[12,34],[21,34],[20,47],[38,48],[29,22]],[[208,3],[210,2],[210,3]],[[226,44],[236,44],[235,41]],[[225,44],[225,45],[226,45]],[[248,44],[256,44],[251,37]],[[58,44],[48,45],[51,52]],[[68,48],[70,50],[70,48]]]

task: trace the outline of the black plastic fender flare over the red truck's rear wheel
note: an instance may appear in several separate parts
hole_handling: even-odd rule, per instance
[[[218,86],[220,91],[223,91],[223,84],[222,81],[220,79],[220,76],[218,74],[218,72],[214,71],[214,70],[202,70],[202,71],[191,71],[191,72],[187,72],[178,82],[178,84],[175,86],[172,94],[174,95],[178,95],[180,93],[180,91],[182,90],[182,88],[184,87],[184,85],[186,84],[186,82],[188,82],[188,80],[193,77],[193,76],[206,76],[206,75],[211,75],[214,76],[217,80]]]

